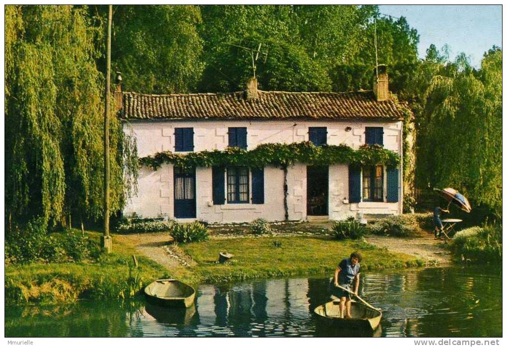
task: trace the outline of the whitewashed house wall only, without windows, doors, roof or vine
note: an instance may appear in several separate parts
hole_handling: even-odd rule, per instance
[[[140,158],[161,151],[174,151],[174,128],[193,128],[194,151],[219,149],[228,146],[228,128],[247,128],[247,149],[263,143],[292,143],[308,141],[309,127],[327,127],[327,143],[344,143],[358,149],[365,143],[365,127],[383,127],[384,148],[402,153],[402,121],[346,121],[346,120],[146,120],[124,123],[124,131],[135,136]],[[350,127],[351,130],[347,129]],[[385,168],[384,168],[385,170]],[[402,168],[399,170],[397,203],[360,202],[348,203],[348,166],[329,167],[329,219],[339,220],[347,216],[364,214],[402,213]],[[211,168],[196,169],[196,218],[179,221],[204,220],[207,222],[248,222],[256,218],[269,221],[284,220],[283,171],[276,167],[264,169],[264,204],[213,205]],[[386,175],[384,177],[384,201],[386,201]],[[251,197],[251,173],[249,179]],[[287,206],[289,220],[306,220],[306,165],[297,163],[287,170]],[[154,171],[141,168],[138,194],[132,197],[124,209],[125,215],[137,214],[142,218],[167,216],[174,218],[173,166],[162,165]],[[227,186],[226,186],[227,187]]]

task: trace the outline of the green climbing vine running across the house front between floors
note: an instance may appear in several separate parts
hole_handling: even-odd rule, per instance
[[[187,154],[173,153],[171,151],[159,152],[154,156],[139,159],[141,166],[154,170],[162,164],[174,164],[178,167],[210,167],[210,166],[247,166],[286,167],[294,163],[311,165],[350,164],[353,166],[383,164],[391,167],[400,165],[400,156],[380,145],[363,145],[354,150],[340,144],[315,146],[313,143],[293,142],[266,143],[252,150],[237,147],[227,147],[225,150],[204,150]]]

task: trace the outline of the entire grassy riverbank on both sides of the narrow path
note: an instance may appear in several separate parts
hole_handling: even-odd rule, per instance
[[[88,236],[98,239],[100,234],[90,232]],[[113,253],[102,254],[96,261],[9,264],[5,273],[6,303],[126,298],[162,277],[197,284],[280,276],[331,276],[336,264],[353,250],[363,254],[363,271],[423,264],[420,259],[366,242],[315,236],[211,239],[179,247],[195,260],[195,265],[165,268],[138,254],[135,244],[124,236],[114,237]],[[220,264],[221,251],[234,257]],[[138,267],[133,267],[133,254]]]

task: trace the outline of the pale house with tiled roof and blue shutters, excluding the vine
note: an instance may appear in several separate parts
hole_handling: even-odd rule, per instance
[[[139,158],[303,141],[355,150],[379,144],[403,158],[402,120],[408,108],[390,95],[385,72],[373,87],[349,93],[274,92],[258,90],[252,79],[245,91],[234,93],[147,95],[118,89],[115,98]],[[401,214],[402,172],[402,164],[357,169],[297,162],[284,173],[275,166],[182,169],[166,163],[158,170],[141,167],[138,194],[123,213],[218,223]]]

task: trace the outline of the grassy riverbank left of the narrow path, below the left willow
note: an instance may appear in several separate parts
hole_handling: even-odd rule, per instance
[[[87,234],[94,239],[100,236]],[[133,266],[132,255],[136,255],[138,267]],[[6,265],[5,300],[12,304],[125,298],[165,272],[131,245],[116,242],[114,253],[102,254],[93,262]]]

